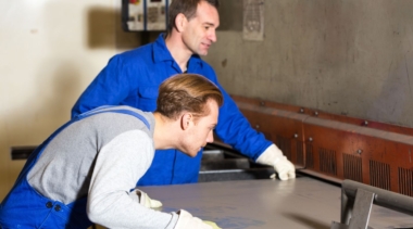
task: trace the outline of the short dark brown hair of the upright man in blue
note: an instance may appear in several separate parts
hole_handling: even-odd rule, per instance
[[[191,20],[197,13],[198,4],[201,1],[206,1],[209,4],[213,5],[216,10],[218,10],[220,1],[218,0],[173,0],[170,10],[167,12],[167,30],[166,35],[171,35],[172,29],[175,27],[175,18],[182,13],[187,20]]]

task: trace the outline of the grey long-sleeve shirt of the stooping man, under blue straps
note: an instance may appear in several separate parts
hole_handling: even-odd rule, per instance
[[[138,118],[101,113],[73,123],[47,145],[27,175],[29,185],[46,198],[72,203],[88,195],[88,217],[108,228],[174,228],[178,216],[140,205],[129,196],[149,168],[153,155],[152,113],[126,109]]]

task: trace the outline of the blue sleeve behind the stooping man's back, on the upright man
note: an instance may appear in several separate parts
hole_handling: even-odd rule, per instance
[[[113,56],[82,93],[72,109],[72,118],[101,105],[118,105],[130,89],[130,74],[124,71],[120,55]]]

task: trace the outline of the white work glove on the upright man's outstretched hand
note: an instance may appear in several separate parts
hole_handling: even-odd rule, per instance
[[[296,167],[275,144],[270,145],[255,162],[273,166],[280,180],[296,178]],[[275,174],[271,176],[272,179],[275,179]]]

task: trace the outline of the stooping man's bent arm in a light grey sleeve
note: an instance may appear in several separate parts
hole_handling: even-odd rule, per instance
[[[139,130],[124,132],[104,145],[89,187],[90,220],[108,228],[173,228],[178,219],[176,214],[145,207],[129,196],[129,190],[152,158],[152,142]]]

